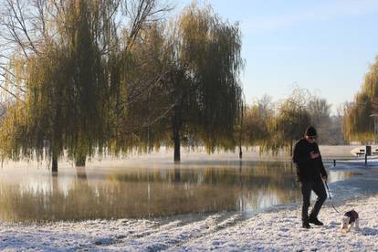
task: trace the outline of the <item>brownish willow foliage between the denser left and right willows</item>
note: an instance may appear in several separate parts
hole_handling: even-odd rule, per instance
[[[111,153],[149,152],[167,139],[166,114],[173,106],[163,87],[165,49],[163,23],[145,26],[128,52],[121,49],[119,63],[112,68],[113,78],[121,85],[110,96]],[[126,60],[127,64],[122,63]]]

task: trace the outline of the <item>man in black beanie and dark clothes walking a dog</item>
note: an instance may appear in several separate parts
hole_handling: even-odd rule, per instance
[[[322,180],[327,180],[328,176],[321,160],[316,139],[316,130],[310,126],[305,132],[305,137],[296,142],[293,153],[293,162],[297,165],[297,175],[303,198],[302,227],[304,228],[310,228],[310,223],[316,226],[323,225],[318,219],[318,214],[321,205],[327,199]],[[318,199],[309,215],[311,191],[317,194]]]

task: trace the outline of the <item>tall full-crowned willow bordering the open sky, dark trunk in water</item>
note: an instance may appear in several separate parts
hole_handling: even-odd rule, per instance
[[[164,132],[170,132],[166,144],[173,145],[174,161],[181,159],[181,145],[205,145],[208,152],[234,149],[243,67],[237,24],[222,21],[209,6],[190,5],[170,31],[161,82],[164,108],[170,107]]]

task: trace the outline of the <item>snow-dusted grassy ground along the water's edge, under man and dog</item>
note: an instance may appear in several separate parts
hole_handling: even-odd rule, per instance
[[[339,163],[361,173],[330,185],[332,200],[320,211],[325,226],[301,228],[300,206],[280,205],[253,216],[217,213],[170,220],[94,220],[22,224],[0,222],[0,250],[126,251],[378,251],[378,163]],[[360,231],[341,234],[341,212],[355,209]]]

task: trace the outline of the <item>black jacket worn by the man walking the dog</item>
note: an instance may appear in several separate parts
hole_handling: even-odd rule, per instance
[[[321,176],[327,177],[321,155],[311,159],[310,152],[319,152],[318,143],[310,143],[305,138],[300,139],[294,146],[293,162],[297,165],[299,181],[318,181]],[[321,176],[320,176],[321,174]]]

